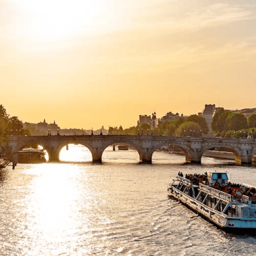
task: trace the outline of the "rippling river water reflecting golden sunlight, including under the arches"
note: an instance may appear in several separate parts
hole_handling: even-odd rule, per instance
[[[156,152],[62,149],[61,163],[18,164],[0,171],[0,255],[256,255],[256,236],[226,234],[167,197],[179,171],[228,171],[256,186],[255,166]],[[256,234],[255,234],[256,235]]]

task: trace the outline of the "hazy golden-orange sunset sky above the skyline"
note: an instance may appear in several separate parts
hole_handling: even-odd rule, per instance
[[[0,0],[0,46],[0,104],[23,122],[256,107],[255,0]]]

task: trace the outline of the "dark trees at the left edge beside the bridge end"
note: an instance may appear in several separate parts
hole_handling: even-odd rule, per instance
[[[10,117],[3,105],[0,105],[0,145],[10,135],[29,135],[17,116]]]

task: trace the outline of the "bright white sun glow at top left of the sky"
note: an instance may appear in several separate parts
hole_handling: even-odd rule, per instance
[[[13,0],[17,33],[33,40],[55,41],[102,33],[111,20],[107,0]],[[17,20],[18,19],[18,20]]]

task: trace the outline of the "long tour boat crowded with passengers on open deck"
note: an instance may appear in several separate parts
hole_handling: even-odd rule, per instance
[[[185,177],[179,172],[167,190],[171,197],[226,231],[256,231],[256,188],[231,183],[227,172]]]

